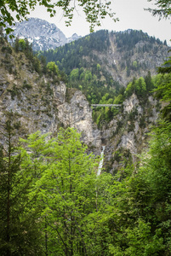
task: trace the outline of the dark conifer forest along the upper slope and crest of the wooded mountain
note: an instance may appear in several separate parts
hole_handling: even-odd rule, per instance
[[[166,41],[162,43],[158,38],[150,37],[147,33],[136,30],[128,30],[127,32],[108,32],[100,30],[98,32],[91,33],[90,35],[79,38],[77,41],[73,41],[70,44],[65,44],[56,49],[48,49],[47,51],[40,51],[38,55],[46,57],[47,62],[54,61],[67,75],[75,68],[92,68],[95,72],[94,58],[97,58],[93,54],[93,50],[98,52],[104,52],[111,45],[110,36],[116,36],[115,43],[120,51],[127,50],[128,55],[133,55],[135,44],[139,42],[145,42],[145,46],[140,51],[145,52],[157,50],[159,45],[167,45]],[[157,43],[157,44],[155,44]],[[155,44],[155,49],[152,45]],[[91,61],[87,61],[83,56],[89,56]],[[94,60],[94,61],[92,61]],[[103,70],[105,73],[105,70]],[[105,74],[104,74],[105,75]]]

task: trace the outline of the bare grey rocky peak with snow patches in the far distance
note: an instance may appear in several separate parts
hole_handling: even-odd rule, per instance
[[[17,22],[12,28],[14,29],[14,36],[27,38],[32,44],[33,50],[55,49],[80,38],[76,33],[71,38],[66,38],[57,26],[37,18]]]

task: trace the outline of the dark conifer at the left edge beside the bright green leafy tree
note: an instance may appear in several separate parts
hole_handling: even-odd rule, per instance
[[[7,113],[0,127],[0,254],[42,255],[38,209],[28,196],[34,177],[30,168],[22,168],[25,155],[16,150],[20,123],[15,119]]]

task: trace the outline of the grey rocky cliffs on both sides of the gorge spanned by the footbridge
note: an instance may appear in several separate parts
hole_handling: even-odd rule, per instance
[[[0,60],[0,118],[5,122],[7,112],[12,111],[19,127],[18,136],[34,131],[56,136],[60,127],[75,127],[82,132],[89,152],[100,154],[101,146],[105,146],[105,170],[112,173],[122,166],[121,154],[130,163],[136,160],[135,154],[147,148],[147,133],[162,108],[151,96],[154,84],[150,74],[118,92],[107,86],[103,90],[102,83],[99,90],[102,95],[104,91],[108,93],[102,96],[101,103],[115,102],[121,108],[92,109],[82,90],[70,88],[70,84],[62,81],[63,73],[56,72],[55,66],[45,68],[29,47],[13,48],[5,38],[0,38]],[[90,88],[94,98],[98,78],[91,78],[84,71],[81,74],[88,86],[93,83],[91,79],[96,81],[97,87]],[[77,79],[72,82],[77,84]]]

